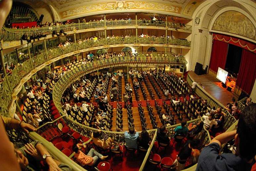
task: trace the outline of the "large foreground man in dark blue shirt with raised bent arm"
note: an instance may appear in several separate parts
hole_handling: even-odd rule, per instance
[[[256,155],[256,104],[247,106],[241,113],[237,130],[216,136],[204,147],[196,171],[250,171]],[[235,138],[236,153],[220,154],[221,145]]]

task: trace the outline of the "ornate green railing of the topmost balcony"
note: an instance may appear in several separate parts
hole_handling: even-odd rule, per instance
[[[108,21],[106,20],[106,29],[109,27],[122,27],[122,26],[131,26],[131,28],[136,28],[137,26],[152,26],[165,29],[166,28],[166,22],[152,22],[151,20],[112,20]],[[65,24],[65,25],[58,25],[58,26],[46,26],[46,27],[38,27],[38,28],[26,28],[26,29],[12,29],[12,28],[6,28],[3,27],[2,30],[0,30],[0,40],[3,41],[14,41],[14,40],[21,40],[21,37],[23,34],[26,34],[28,37],[34,36],[34,35],[49,35],[52,34],[53,31],[56,31],[57,33],[60,32],[60,30],[64,30],[64,32],[67,31],[73,31],[73,30],[85,30],[85,29],[92,29],[92,28],[102,28],[102,30],[105,29],[105,22],[104,21],[95,21],[95,22],[82,22],[82,23],[73,23],[73,24]],[[169,30],[177,30],[177,31],[186,31],[191,32],[191,26],[185,25],[180,26],[179,23],[174,22],[167,22],[167,29]]]

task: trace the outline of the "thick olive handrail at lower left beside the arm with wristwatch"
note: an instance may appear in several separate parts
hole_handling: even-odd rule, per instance
[[[53,158],[69,165],[72,168],[72,170],[86,170],[73,160],[70,160],[68,156],[64,155],[60,150],[54,147],[52,143],[48,142],[46,139],[38,135],[36,132],[29,132],[29,137],[31,137],[34,140],[40,141],[47,149],[47,151],[53,156]]]

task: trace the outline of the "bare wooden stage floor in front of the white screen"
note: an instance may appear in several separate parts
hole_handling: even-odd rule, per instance
[[[196,75],[194,71],[189,71],[189,75],[197,84],[204,87],[206,92],[211,94],[224,106],[226,106],[227,103],[232,102],[232,97],[235,97],[236,100],[238,99],[238,97],[233,92],[223,88],[221,86],[221,82],[216,82],[216,79],[214,79],[209,74]]]

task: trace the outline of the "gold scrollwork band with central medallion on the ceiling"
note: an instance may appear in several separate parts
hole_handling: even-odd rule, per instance
[[[145,10],[158,10],[171,13],[180,13],[181,7],[168,5],[156,2],[143,2],[143,1],[112,1],[106,3],[88,4],[82,7],[70,9],[60,12],[62,17],[70,17],[82,13],[90,13],[95,11],[116,10],[123,11],[129,9],[145,9]]]

